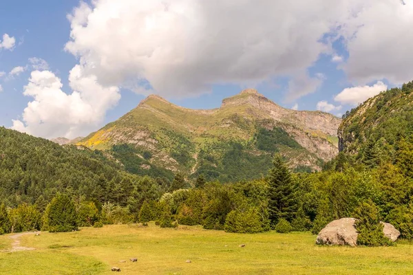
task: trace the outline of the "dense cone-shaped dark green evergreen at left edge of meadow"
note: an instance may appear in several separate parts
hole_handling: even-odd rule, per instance
[[[77,230],[77,214],[73,201],[67,195],[58,194],[46,208],[44,227],[50,232]]]

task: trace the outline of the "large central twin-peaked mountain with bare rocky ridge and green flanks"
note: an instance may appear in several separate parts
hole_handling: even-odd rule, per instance
[[[330,113],[284,109],[255,89],[211,110],[152,95],[77,144],[112,152],[132,173],[156,175],[155,169],[171,177],[181,171],[232,181],[265,175],[275,152],[291,168],[319,170],[338,153],[340,122]]]

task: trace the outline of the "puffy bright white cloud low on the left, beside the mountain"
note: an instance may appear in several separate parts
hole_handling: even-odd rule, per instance
[[[96,77],[84,76],[81,66],[70,72],[74,91],[65,94],[61,80],[49,71],[32,72],[23,94],[33,98],[22,120],[13,120],[12,129],[42,137],[86,135],[100,126],[107,109],[120,99],[117,87],[102,87]]]

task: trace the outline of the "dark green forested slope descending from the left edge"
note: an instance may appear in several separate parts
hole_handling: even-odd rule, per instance
[[[0,127],[0,200],[9,206],[45,206],[56,192],[125,205],[138,179],[100,151]]]

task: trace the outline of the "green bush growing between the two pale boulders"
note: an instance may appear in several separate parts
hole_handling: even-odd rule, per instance
[[[372,201],[363,202],[354,210],[357,219],[355,227],[359,235],[358,245],[383,246],[393,245],[392,241],[384,236],[383,224],[380,223],[379,210]]]

